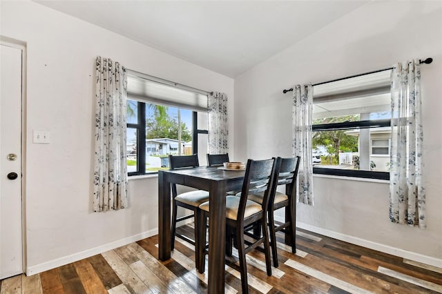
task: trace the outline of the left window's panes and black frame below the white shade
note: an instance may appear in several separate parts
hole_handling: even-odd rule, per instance
[[[127,105],[128,175],[157,173],[158,170],[169,169],[169,154],[198,153],[198,145],[201,146],[202,151],[205,150],[201,153],[205,158],[207,148],[204,146],[207,145],[207,136],[201,135],[208,132],[196,127],[198,117],[200,119],[207,117],[206,112],[148,104],[131,99],[128,99]],[[133,115],[133,112],[137,115]],[[178,121],[180,121],[181,133],[178,129]],[[193,134],[196,134],[198,139],[195,145]]]

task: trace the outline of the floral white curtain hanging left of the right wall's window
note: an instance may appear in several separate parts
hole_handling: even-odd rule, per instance
[[[296,85],[293,97],[293,155],[301,158],[298,171],[298,201],[314,205],[313,164],[311,162],[311,121],[313,89]]]

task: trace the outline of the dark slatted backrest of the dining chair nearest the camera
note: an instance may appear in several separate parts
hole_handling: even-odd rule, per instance
[[[274,173],[277,161],[275,158],[265,160],[247,160],[244,183],[242,184],[240,206],[238,208],[237,220],[244,219],[249,194],[256,194],[264,191],[262,202],[263,213],[267,213],[267,203],[273,186]]]

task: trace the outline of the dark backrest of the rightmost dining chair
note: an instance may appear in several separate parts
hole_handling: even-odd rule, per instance
[[[276,159],[276,171],[274,174],[273,187],[271,189],[269,204],[273,204],[276,188],[285,185],[285,194],[290,198],[292,195],[296,197],[296,178],[298,177],[298,169],[300,157],[289,157]]]

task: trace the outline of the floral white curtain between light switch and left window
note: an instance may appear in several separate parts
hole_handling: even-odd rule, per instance
[[[126,69],[111,59],[97,57],[95,89],[94,211],[125,208]]]

